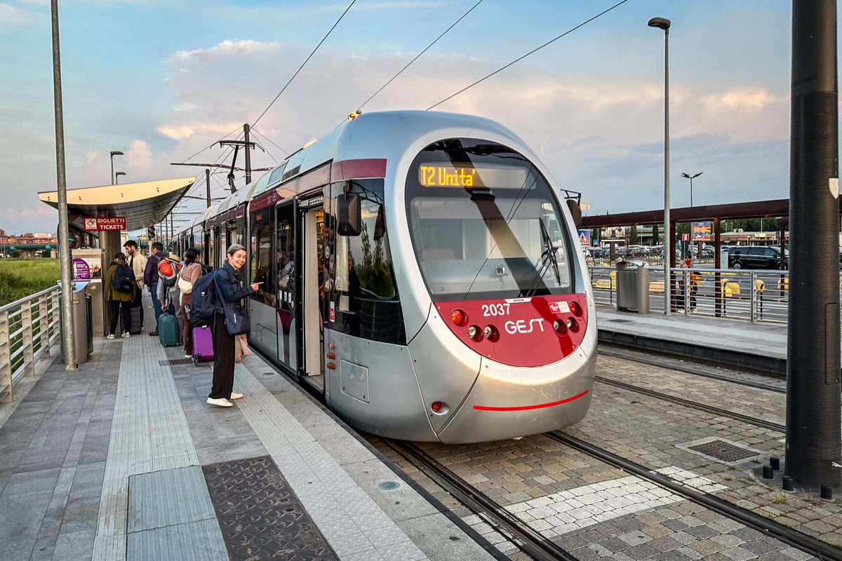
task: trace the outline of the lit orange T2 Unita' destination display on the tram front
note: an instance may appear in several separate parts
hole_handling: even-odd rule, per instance
[[[418,182],[424,187],[520,189],[526,183],[526,170],[514,166],[424,163],[418,167]]]

